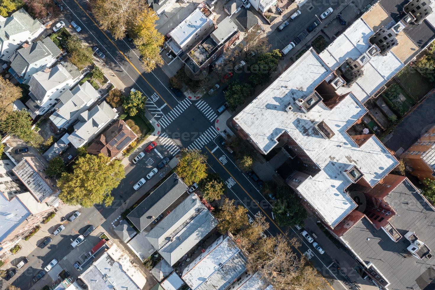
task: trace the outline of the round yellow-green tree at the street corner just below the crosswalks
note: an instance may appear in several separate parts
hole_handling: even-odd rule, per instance
[[[181,158],[175,167],[175,172],[184,179],[184,183],[191,185],[199,183],[207,177],[207,156],[195,149],[187,151],[181,150]]]

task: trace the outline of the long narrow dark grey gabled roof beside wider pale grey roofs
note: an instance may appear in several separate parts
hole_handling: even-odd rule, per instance
[[[131,223],[139,231],[143,231],[187,189],[187,185],[184,184],[176,173],[173,173],[157,189],[151,192],[150,196],[134,208],[127,215],[127,218],[130,219]]]

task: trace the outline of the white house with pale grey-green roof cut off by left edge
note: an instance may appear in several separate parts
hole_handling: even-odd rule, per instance
[[[0,54],[3,61],[9,61],[14,51],[24,42],[32,42],[45,27],[33,19],[23,8],[10,17],[0,16]]]

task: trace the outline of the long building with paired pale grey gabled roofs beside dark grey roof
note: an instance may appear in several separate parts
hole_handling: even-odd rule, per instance
[[[163,259],[173,266],[217,225],[218,220],[192,193],[145,237]]]

